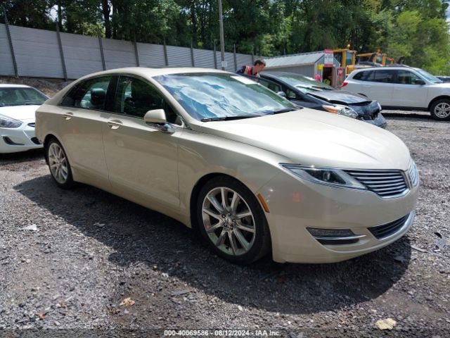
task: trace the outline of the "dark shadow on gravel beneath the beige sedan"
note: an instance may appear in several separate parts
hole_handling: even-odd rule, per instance
[[[149,277],[148,272],[157,265],[159,271],[186,282],[189,288],[230,303],[279,313],[333,311],[385,293],[404,275],[411,258],[409,239],[404,237],[387,248],[342,263],[282,265],[264,258],[238,266],[210,253],[176,220],[100,189],[80,185],[63,191],[50,175],[14,188],[114,249],[108,257],[114,264],[143,265],[141,276],[133,283],[134,289],[144,293],[152,288],[158,292],[161,283],[165,287],[172,284],[161,275],[158,280]]]

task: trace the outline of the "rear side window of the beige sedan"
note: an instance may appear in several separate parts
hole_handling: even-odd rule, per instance
[[[110,76],[96,77],[80,82],[70,89],[61,105],[105,110],[106,93],[108,92],[111,78]]]

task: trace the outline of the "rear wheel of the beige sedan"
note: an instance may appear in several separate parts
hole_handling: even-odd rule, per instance
[[[49,163],[51,177],[58,184],[58,187],[69,189],[74,186],[72,170],[68,156],[65,154],[63,146],[57,139],[53,138],[46,146],[46,158]]]

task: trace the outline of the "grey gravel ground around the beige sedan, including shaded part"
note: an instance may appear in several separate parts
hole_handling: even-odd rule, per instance
[[[326,265],[233,265],[165,215],[58,189],[41,151],[0,156],[0,337],[450,337],[450,247],[436,234],[450,235],[450,123],[385,115],[420,170],[416,220],[385,249]],[[387,318],[393,330],[375,327]]]

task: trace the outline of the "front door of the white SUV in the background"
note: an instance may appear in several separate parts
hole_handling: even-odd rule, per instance
[[[408,69],[397,70],[397,76],[392,85],[393,106],[427,107],[428,87],[425,84],[414,84],[415,80],[423,80],[423,78]]]

